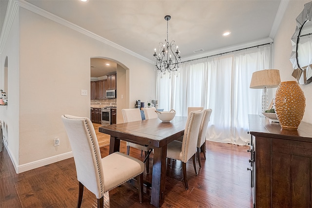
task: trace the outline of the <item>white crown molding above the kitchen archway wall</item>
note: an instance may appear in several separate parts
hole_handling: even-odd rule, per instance
[[[10,6],[10,4],[13,4],[14,6]],[[47,11],[45,11],[45,10],[43,10],[43,9],[41,9],[41,8],[39,8],[39,7],[33,5],[33,4],[31,4],[31,3],[29,3],[29,2],[27,2],[25,0],[9,0],[9,6],[8,6],[8,9],[7,9],[7,15],[9,14],[9,16],[10,16],[9,19],[11,21],[8,21],[7,18],[4,19],[4,25],[6,25],[6,27],[3,27],[3,31],[5,31],[6,37],[2,38],[2,34],[1,34],[1,38],[0,38],[0,47],[1,48],[0,49],[2,49],[2,50],[4,48],[7,36],[9,34],[9,31],[10,31],[10,28],[12,26],[12,22],[13,22],[13,19],[14,19],[15,15],[16,15],[16,11],[17,11],[18,7],[22,7],[24,9],[27,9],[27,10],[29,10],[29,11],[35,13],[35,14],[38,14],[38,15],[40,15],[42,17],[45,17],[45,18],[50,19],[52,21],[55,21],[55,22],[57,22],[57,23],[59,23],[61,25],[64,25],[65,27],[71,28],[71,29],[73,29],[73,30],[75,30],[75,31],[77,31],[77,32],[79,32],[81,34],[84,34],[84,35],[86,35],[86,36],[88,36],[90,38],[96,39],[96,40],[98,40],[98,41],[100,41],[100,42],[102,42],[102,43],[104,43],[106,45],[112,46],[112,47],[114,47],[114,48],[116,48],[116,49],[118,49],[120,51],[123,51],[123,52],[125,52],[127,54],[130,54],[130,55],[134,56],[134,57],[142,59],[142,60],[144,60],[146,62],[153,63],[152,60],[150,60],[150,59],[148,59],[146,57],[143,57],[143,56],[141,56],[141,55],[139,55],[139,54],[137,54],[137,53],[127,49],[127,48],[124,48],[124,47],[122,47],[122,46],[120,46],[120,45],[118,45],[118,44],[116,44],[116,43],[114,43],[114,42],[112,42],[112,41],[110,41],[110,40],[108,40],[106,38],[102,38],[102,37],[100,37],[100,36],[90,32],[90,31],[88,31],[88,30],[86,30],[86,29],[76,25],[76,24],[71,23],[70,21],[62,19],[62,18],[60,18],[60,17],[58,17],[58,16],[56,16],[56,15],[50,13],[50,12],[47,12]],[[2,31],[2,33],[3,33],[3,31]],[[2,51],[0,51],[0,53],[1,52]]]

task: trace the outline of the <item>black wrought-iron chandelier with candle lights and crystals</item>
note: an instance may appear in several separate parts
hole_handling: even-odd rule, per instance
[[[166,70],[169,73],[177,71],[179,68],[179,61],[181,60],[180,51],[175,40],[172,40],[169,44],[168,21],[170,19],[170,15],[165,16],[165,20],[167,20],[167,39],[165,39],[164,43],[159,42],[159,54],[156,54],[155,48],[153,55],[156,62],[155,68],[164,74],[166,73]]]

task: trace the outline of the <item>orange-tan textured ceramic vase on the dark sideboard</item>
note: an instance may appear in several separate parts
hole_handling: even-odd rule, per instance
[[[284,81],[279,84],[274,106],[282,129],[296,130],[306,108],[306,98],[297,81]]]

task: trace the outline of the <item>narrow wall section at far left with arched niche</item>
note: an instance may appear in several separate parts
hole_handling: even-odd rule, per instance
[[[0,106],[0,120],[2,121],[4,143],[7,146],[7,150],[10,154],[11,160],[14,165],[19,164],[19,152],[20,152],[20,16],[17,14],[13,20],[8,39],[6,41],[6,47],[3,49],[3,53],[0,56],[0,89],[5,89],[5,73],[4,65],[7,58],[8,67],[8,106]]]

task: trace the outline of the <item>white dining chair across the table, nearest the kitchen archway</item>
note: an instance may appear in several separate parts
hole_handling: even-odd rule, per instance
[[[141,121],[142,117],[141,117],[141,112],[140,109],[138,108],[129,108],[129,109],[121,109],[122,112],[122,116],[123,116],[123,122],[132,122],[132,121]],[[133,148],[137,148],[139,150],[141,150],[141,156],[142,156],[142,152],[144,151],[145,153],[145,166],[146,166],[146,173],[149,173],[149,167],[150,167],[150,153],[151,151],[153,151],[153,149],[149,148],[149,147],[145,147],[142,145],[138,145],[132,142],[127,142],[127,154],[129,155],[130,153],[130,147]]]

